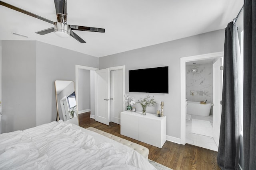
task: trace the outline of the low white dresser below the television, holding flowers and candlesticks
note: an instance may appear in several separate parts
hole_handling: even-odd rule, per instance
[[[166,141],[166,116],[142,112],[121,112],[121,135],[162,148]]]

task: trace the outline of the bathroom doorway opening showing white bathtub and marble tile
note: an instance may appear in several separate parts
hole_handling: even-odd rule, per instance
[[[221,66],[222,58],[186,62],[186,143],[214,151],[220,135]]]

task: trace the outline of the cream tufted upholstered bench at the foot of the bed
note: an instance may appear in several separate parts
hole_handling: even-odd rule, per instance
[[[86,129],[88,129],[88,130],[90,130],[90,131],[94,131],[94,132],[96,132],[96,133],[99,133],[100,135],[103,135],[103,136],[105,136],[105,137],[108,137],[108,138],[110,138],[110,139],[112,139],[112,140],[114,140],[114,141],[117,141],[117,142],[119,142],[119,143],[122,143],[123,145],[126,145],[126,146],[128,146],[128,147],[130,147],[130,148],[136,150],[136,151],[139,152],[142,156],[144,156],[146,159],[148,159],[149,150],[148,150],[148,148],[143,147],[142,145],[139,145],[139,144],[137,144],[137,143],[133,143],[133,142],[128,141],[128,140],[126,140],[126,139],[122,139],[122,138],[120,138],[120,137],[117,137],[117,136],[112,135],[112,134],[110,134],[110,133],[106,133],[106,132],[101,131],[101,130],[99,130],[99,129],[96,129],[96,128],[94,128],[94,127],[88,127],[88,128],[86,128]]]

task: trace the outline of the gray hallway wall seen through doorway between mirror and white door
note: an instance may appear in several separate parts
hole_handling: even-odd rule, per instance
[[[90,70],[78,69],[78,113],[90,109]]]

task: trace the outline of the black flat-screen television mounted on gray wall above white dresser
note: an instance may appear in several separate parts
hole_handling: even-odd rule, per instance
[[[168,66],[129,70],[129,92],[168,93]]]

